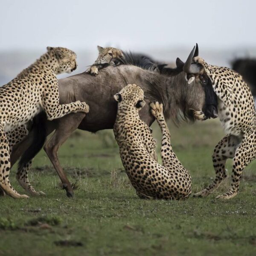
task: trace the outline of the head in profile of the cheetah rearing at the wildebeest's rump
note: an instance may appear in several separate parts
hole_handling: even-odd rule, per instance
[[[55,55],[59,63],[59,74],[71,73],[77,68],[76,53],[63,47],[47,47],[47,51]]]

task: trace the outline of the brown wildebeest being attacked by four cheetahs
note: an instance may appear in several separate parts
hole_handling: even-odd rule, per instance
[[[26,166],[25,168],[28,169],[31,163],[29,162],[30,159],[43,146],[36,143],[40,140],[38,138],[39,130],[45,126],[45,136],[55,130],[52,137],[44,145],[44,150],[55,167],[67,196],[73,196],[72,186],[58,161],[58,148],[76,128],[91,132],[112,129],[117,110],[113,95],[127,84],[135,83],[144,90],[146,105],[140,111],[140,117],[149,126],[154,122],[154,117],[150,114],[149,104],[156,101],[163,103],[164,116],[175,122],[179,122],[182,118],[194,121],[193,110],[204,110],[206,116],[216,117],[217,101],[215,93],[211,87],[205,88],[199,80],[194,81],[193,86],[188,86],[183,72],[183,62],[177,61],[178,65],[174,69],[160,65],[161,73],[141,68],[145,67],[145,62],[148,64],[148,60],[145,61],[145,58],[130,56],[128,61],[123,61],[118,67],[110,66],[101,70],[96,77],[81,73],[60,79],[60,103],[64,104],[76,100],[85,101],[90,106],[90,112],[85,118],[84,113],[73,113],[52,121],[39,120],[37,122],[39,125],[34,125],[26,139],[13,148],[12,165],[25,151],[20,166]],[[150,70],[150,67],[147,68]],[[44,137],[44,132],[41,133],[41,137]],[[24,174],[26,178],[27,169]],[[18,169],[18,172],[20,171],[21,168]]]

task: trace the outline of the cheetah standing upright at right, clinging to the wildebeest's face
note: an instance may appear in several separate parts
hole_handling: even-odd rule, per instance
[[[227,67],[207,64],[201,57],[194,62],[203,68],[218,96],[218,116],[227,135],[215,146],[212,154],[215,180],[195,197],[211,194],[227,178],[226,160],[233,159],[230,189],[216,198],[233,198],[239,192],[244,168],[256,158],[256,111],[249,87],[238,73]]]

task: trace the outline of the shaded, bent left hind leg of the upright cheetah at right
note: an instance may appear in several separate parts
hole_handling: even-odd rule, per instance
[[[225,164],[227,158],[233,158],[240,139],[234,135],[226,135],[216,146],[212,154],[215,180],[206,189],[198,192],[194,197],[205,197],[211,194],[227,178]]]

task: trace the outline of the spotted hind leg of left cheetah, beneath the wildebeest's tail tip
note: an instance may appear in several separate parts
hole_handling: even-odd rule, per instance
[[[29,183],[28,172],[31,165],[32,161],[29,161],[22,169],[18,169],[16,179],[20,183],[20,186],[22,186],[26,192],[29,192],[30,195],[46,195],[43,191],[35,191],[34,187]]]

